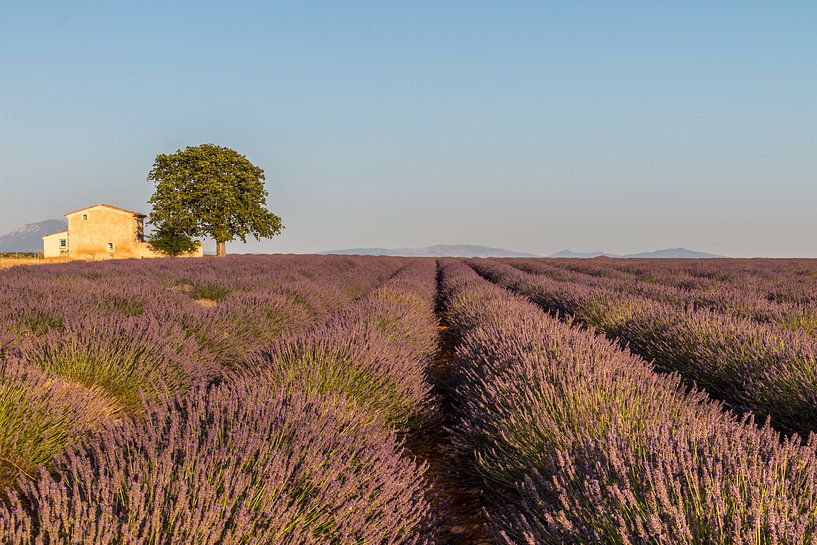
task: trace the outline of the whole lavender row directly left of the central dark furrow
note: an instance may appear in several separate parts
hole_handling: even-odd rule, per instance
[[[424,467],[395,430],[434,412],[435,264],[408,263],[217,385],[170,393],[69,447],[0,506],[45,543],[432,542]]]

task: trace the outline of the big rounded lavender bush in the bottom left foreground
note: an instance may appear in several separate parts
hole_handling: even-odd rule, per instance
[[[202,388],[57,457],[0,505],[10,545],[430,543],[423,468],[324,396]]]

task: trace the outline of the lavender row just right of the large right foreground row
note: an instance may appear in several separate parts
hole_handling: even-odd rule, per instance
[[[554,280],[502,263],[474,261],[473,266],[545,310],[618,339],[738,411],[771,417],[786,432],[807,434],[817,428],[817,342],[812,335]]]

